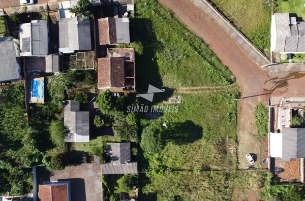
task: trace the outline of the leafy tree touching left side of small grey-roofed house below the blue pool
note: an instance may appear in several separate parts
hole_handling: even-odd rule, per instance
[[[62,120],[53,120],[49,127],[51,141],[54,145],[61,147],[65,145],[67,128]]]

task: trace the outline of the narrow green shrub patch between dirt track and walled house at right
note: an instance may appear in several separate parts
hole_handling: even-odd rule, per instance
[[[259,103],[256,105],[255,110],[255,125],[258,128],[260,137],[268,135],[268,108],[264,107],[263,104]]]

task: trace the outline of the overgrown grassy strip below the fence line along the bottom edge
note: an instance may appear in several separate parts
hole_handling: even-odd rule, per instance
[[[243,200],[258,200],[250,194],[262,188],[269,178],[268,171],[176,172],[156,177],[143,191],[157,191],[158,200],[232,200],[234,191],[244,196]]]

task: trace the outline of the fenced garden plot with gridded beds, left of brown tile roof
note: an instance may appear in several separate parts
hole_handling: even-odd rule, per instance
[[[94,52],[78,52],[63,57],[63,71],[94,69]]]

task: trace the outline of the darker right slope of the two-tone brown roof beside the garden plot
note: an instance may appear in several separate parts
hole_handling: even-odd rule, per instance
[[[124,57],[112,57],[111,64],[111,87],[125,87]]]

